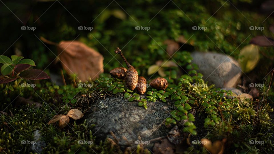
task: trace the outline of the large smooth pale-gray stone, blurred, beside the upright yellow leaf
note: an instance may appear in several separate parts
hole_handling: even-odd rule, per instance
[[[229,88],[237,84],[241,68],[233,58],[213,52],[192,52],[192,62],[199,67],[203,79],[217,88]]]

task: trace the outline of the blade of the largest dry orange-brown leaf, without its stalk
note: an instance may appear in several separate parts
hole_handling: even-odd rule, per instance
[[[57,50],[63,68],[68,74],[76,73],[78,80],[94,80],[104,72],[104,57],[82,42],[61,41]]]

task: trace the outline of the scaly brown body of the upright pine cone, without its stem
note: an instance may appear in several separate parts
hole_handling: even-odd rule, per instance
[[[134,90],[138,84],[138,72],[133,66],[128,67],[125,79],[128,89]]]

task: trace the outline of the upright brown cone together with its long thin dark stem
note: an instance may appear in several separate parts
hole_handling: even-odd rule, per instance
[[[128,87],[128,89],[134,90],[138,84],[137,70],[128,63],[122,51],[118,47],[116,48],[115,53],[120,54],[123,60],[126,62],[126,65],[128,66],[128,70],[126,71],[126,77],[125,77],[126,86]]]

